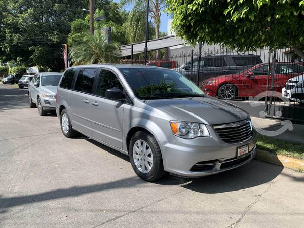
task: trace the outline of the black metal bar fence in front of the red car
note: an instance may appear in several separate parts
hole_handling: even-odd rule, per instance
[[[304,121],[304,63],[290,48],[237,52],[216,46],[149,53],[148,65],[174,69],[206,94],[265,105],[266,116]],[[144,64],[140,55],[122,63]]]

